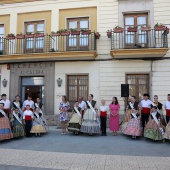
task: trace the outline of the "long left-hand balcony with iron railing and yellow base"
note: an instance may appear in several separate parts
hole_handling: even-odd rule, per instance
[[[0,38],[0,63],[94,60],[95,33],[87,35],[20,35]]]

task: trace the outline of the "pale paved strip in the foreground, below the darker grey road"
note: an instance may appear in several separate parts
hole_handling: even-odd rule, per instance
[[[31,167],[29,170],[45,170],[43,168],[48,170],[170,170],[170,157],[0,149],[1,170],[7,170],[7,168],[11,168],[11,170],[25,170],[26,167],[27,169]]]

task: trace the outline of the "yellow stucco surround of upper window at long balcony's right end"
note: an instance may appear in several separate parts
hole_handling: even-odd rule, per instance
[[[97,31],[97,8],[72,8],[59,10],[59,29],[67,28],[67,18],[89,17],[89,29]]]

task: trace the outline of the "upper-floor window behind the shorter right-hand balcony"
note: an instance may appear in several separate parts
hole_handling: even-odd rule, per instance
[[[124,15],[125,24],[125,47],[129,48],[135,44],[142,47],[148,46],[148,35],[146,31],[141,31],[141,27],[148,26],[148,14],[127,14]],[[128,27],[137,27],[137,32],[127,32]]]

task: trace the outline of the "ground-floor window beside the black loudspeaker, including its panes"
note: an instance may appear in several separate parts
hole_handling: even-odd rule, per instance
[[[126,83],[129,84],[129,95],[136,96],[136,101],[141,101],[143,94],[149,93],[149,74],[127,74]]]

